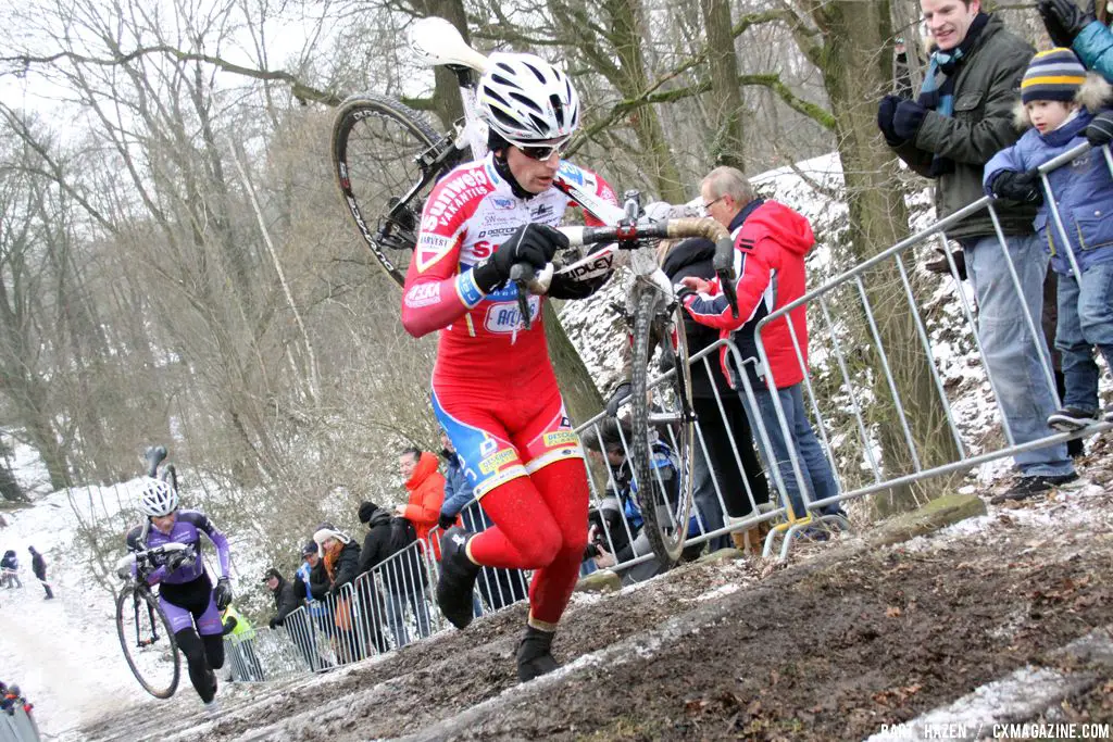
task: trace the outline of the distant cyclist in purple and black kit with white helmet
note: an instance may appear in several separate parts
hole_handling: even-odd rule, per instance
[[[224,666],[220,611],[232,603],[228,580],[228,540],[203,513],[179,511],[178,493],[166,482],[148,478],[139,498],[147,516],[128,532],[129,552],[140,552],[168,543],[189,548],[154,557],[155,568],[140,575],[148,585],[159,585],[158,601],[170,622],[170,631],[186,655],[189,680],[207,711],[216,710],[216,673]],[[220,577],[216,588],[200,560],[200,534],[216,546]],[[131,564],[136,575],[137,565]],[[196,629],[195,629],[196,624]],[[200,636],[198,636],[200,634]]]

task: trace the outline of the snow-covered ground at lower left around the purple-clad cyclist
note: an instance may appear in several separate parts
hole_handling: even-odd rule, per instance
[[[36,718],[46,734],[58,735],[82,725],[122,703],[156,703],[131,675],[116,633],[116,606],[106,583],[96,575],[115,564],[115,554],[104,565],[88,558],[89,547],[80,541],[80,524],[97,523],[112,534],[109,544],[124,552],[124,535],[138,523],[134,504],[141,478],[106,487],[75,487],[46,495],[45,469],[26,446],[14,444],[17,477],[32,493],[33,507],[4,513],[9,526],[0,530],[0,552],[12,548],[19,556],[22,590],[0,588],[0,680],[16,682],[35,704]],[[243,540],[230,536],[235,557],[234,575],[240,584],[257,588],[256,575],[264,566],[252,560]],[[203,540],[204,541],[204,540]],[[56,598],[43,598],[42,587],[31,573],[35,546],[47,561],[47,577]],[[205,545],[211,561],[215,551]],[[209,570],[213,565],[209,563]],[[107,578],[116,582],[115,576]],[[169,703],[199,702],[183,676],[181,687]]]

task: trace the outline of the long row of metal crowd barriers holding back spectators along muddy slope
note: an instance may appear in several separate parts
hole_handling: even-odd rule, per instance
[[[1089,150],[1089,145],[1082,145],[1041,168],[1052,218],[1064,244],[1068,244],[1066,227],[1054,202],[1046,174]],[[1113,174],[1113,157],[1107,147],[1103,150],[1102,156]],[[795,447],[787,447],[787,459],[774,461],[775,465],[770,466],[770,452],[774,451],[771,436],[779,433],[790,438],[791,431],[778,395],[771,394],[774,389],[768,375],[761,377],[765,388],[755,388],[749,375],[741,374],[738,379],[741,389],[736,389],[737,396],[723,395],[712,385],[713,407],[708,402],[695,425],[697,472],[682,473],[682,476],[698,475],[693,508],[697,534],[688,540],[693,550],[708,542],[712,547],[725,545],[731,533],[756,532],[758,526],[776,522],[765,538],[762,554],[771,555],[776,541],[782,538],[779,556],[785,558],[792,536],[800,531],[823,523],[847,527],[845,515],[835,509],[843,502],[920,486],[929,477],[965,473],[987,462],[1063,444],[1071,437],[1113,427],[1102,423],[1073,434],[1046,428],[1030,439],[1018,439],[1014,434],[1002,407],[1001,379],[995,378],[995,372],[985,362],[972,298],[959,280],[946,237],[947,230],[959,221],[983,211],[992,219],[1001,261],[1006,268],[1008,279],[1005,290],[1012,290],[1014,297],[1023,297],[1021,278],[1007,249],[996,205],[994,199],[986,197],[770,314],[758,325],[758,358],[742,358],[731,340],[720,340],[690,358],[690,364],[702,364],[703,370],[710,372],[711,364],[719,363],[720,349],[726,348],[738,368],[768,367],[768,352],[761,330],[787,317],[794,309],[804,307],[809,313],[810,369],[805,363],[801,338],[791,324],[788,325],[792,353],[798,366],[805,369],[801,383],[806,405],[804,414],[817,434],[821,455],[831,468],[837,488],[834,496],[815,497],[805,475],[806,462],[800,459]],[[915,265],[914,257],[907,259],[909,251],[933,240],[944,248],[957,287],[957,301],[953,306],[957,307],[961,317],[957,345],[965,345],[966,352],[963,353],[940,353],[933,342],[932,330],[940,321],[948,321],[946,311],[940,313],[937,307],[939,300],[935,294],[938,293],[938,285],[927,281],[925,275],[908,265],[909,261]],[[1081,276],[1077,261],[1073,254],[1068,251],[1068,255],[1077,278]],[[1032,306],[1042,306],[1042,293],[1038,301],[1036,297],[1027,298],[1027,303],[1018,301],[1023,310],[1015,321],[1022,324],[1034,357],[1040,360],[1038,380],[1046,385],[1058,406],[1054,372],[1041,329],[1042,316],[1031,309]],[[879,303],[883,306],[879,307]],[[943,314],[943,319],[925,316],[928,309],[933,315]],[[948,344],[954,346],[956,340]],[[968,364],[971,353],[977,358],[974,368]],[[650,389],[656,392],[671,373],[656,378]],[[999,369],[996,373],[999,374]],[[993,392],[1003,435],[999,444],[982,435],[981,426],[985,421],[971,419],[969,410],[963,406],[967,400],[958,396],[961,384],[957,382],[971,377],[984,379]],[[909,384],[917,392],[916,398],[903,396]],[[738,419],[738,404],[757,409],[757,395],[762,392],[770,393],[776,414],[772,418],[761,415],[750,418],[747,415],[750,433],[746,435],[732,422]],[[577,432],[581,435],[592,428],[598,432],[604,417],[600,413],[580,425]],[[732,462],[717,461],[712,455],[709,442],[721,444],[723,434],[729,442],[728,458]],[[660,441],[676,449],[677,442],[671,431],[661,432]],[[629,457],[629,442],[623,439],[622,445]],[[755,445],[764,464],[768,502],[765,486],[746,476],[742,463],[741,452]],[[617,492],[619,487],[610,467],[602,459],[593,462],[590,455],[585,457],[584,466],[591,487],[591,511],[600,513],[618,508],[621,513],[623,493]],[[737,483],[728,481],[733,477],[722,476],[728,466],[741,475],[741,492],[737,491]],[[663,486],[660,476],[658,471],[658,485]],[[601,481],[607,483],[602,492],[597,484]],[[788,487],[794,483],[804,505],[800,513],[790,504]],[[915,489],[912,493],[926,498],[925,493],[916,493]],[[490,525],[476,501],[464,508],[461,520],[473,532]],[[622,544],[632,544],[632,555],[608,568],[623,575],[624,581],[656,574],[656,557],[648,542],[639,538],[640,534],[624,516],[619,518],[621,528],[618,533],[607,526],[605,518],[601,522],[600,538],[610,554],[617,554]],[[414,543],[393,555],[371,573],[345,585],[337,596],[299,607],[286,619],[279,632],[258,632],[254,651],[256,656],[263,659],[266,676],[321,672],[336,664],[400,649],[415,636],[429,636],[443,629],[445,622],[432,592],[440,568],[433,557],[439,550],[434,551],[433,544],[439,542],[440,536],[440,528],[433,528],[427,542]],[[583,572],[590,571],[590,563],[591,560],[585,560]],[[476,583],[476,615],[525,600],[529,577],[530,574],[523,571],[484,568]],[[282,633],[285,633],[285,641],[277,641]],[[237,662],[246,664],[243,656],[238,656]]]

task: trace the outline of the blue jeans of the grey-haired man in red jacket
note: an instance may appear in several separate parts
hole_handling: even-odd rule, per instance
[[[838,495],[838,484],[835,482],[835,474],[831,472],[830,462],[827,454],[816,437],[816,432],[808,419],[808,410],[804,404],[804,392],[800,384],[777,389],[777,397],[780,407],[785,412],[785,421],[788,424],[790,442],[796,451],[796,459],[800,465],[800,474],[804,476],[804,484],[808,488],[810,502],[826,499]],[[781,429],[780,421],[777,417],[777,407],[774,405],[772,394],[765,387],[755,387],[754,397],[757,399],[757,410],[746,398],[746,390],[740,389],[742,405],[746,407],[746,415],[750,419],[750,429],[754,431],[754,439],[758,444],[758,453],[765,461],[766,471],[769,472],[770,485],[782,484],[784,494],[788,495],[792,504],[792,512],[796,517],[801,518],[807,515],[807,508],[800,497],[801,483],[796,477],[792,469],[792,459],[789,457],[788,441]],[[767,448],[761,435],[761,427],[765,426],[766,435],[769,436],[769,447]],[[771,451],[769,449],[771,448]],[[780,474],[780,483],[777,482],[772,473],[772,463],[777,464],[777,472]],[[831,503],[819,508],[823,515],[839,513],[838,503]]]

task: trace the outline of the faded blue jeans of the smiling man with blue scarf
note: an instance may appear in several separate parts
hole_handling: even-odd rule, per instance
[[[1022,296],[1016,294],[996,236],[983,237],[964,248],[966,274],[978,306],[977,333],[985,352],[986,370],[993,376],[997,404],[1008,421],[1013,442],[1020,445],[1052,435],[1047,417],[1055,412],[1056,400],[1044,374],[1045,366],[1051,368],[1051,359],[1040,323],[1047,255],[1040,238],[1035,235],[1008,238],[1008,255],[1020,279]],[[1035,338],[1028,332],[1023,306],[1027,306],[1035,324]],[[1022,476],[1074,472],[1065,443],[1026,451],[1016,454],[1014,459]]]

